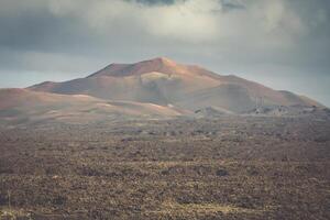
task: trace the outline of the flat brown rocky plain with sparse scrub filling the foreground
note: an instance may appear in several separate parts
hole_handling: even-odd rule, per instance
[[[330,120],[0,129],[0,219],[330,219]]]

